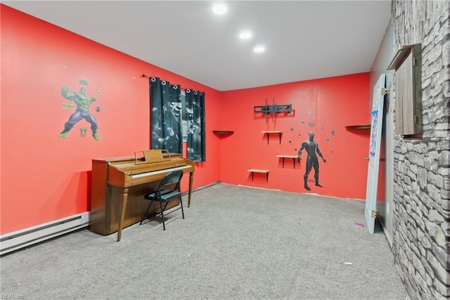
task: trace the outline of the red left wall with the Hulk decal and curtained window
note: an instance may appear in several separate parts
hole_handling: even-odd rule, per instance
[[[153,75],[206,93],[207,127],[219,122],[220,93],[60,27],[1,5],[1,234],[89,211],[91,158],[149,148],[148,79]],[[97,101],[100,141],[80,121],[58,137],[74,109],[62,85]],[[101,111],[94,108],[100,106]],[[86,137],[79,127],[87,128]],[[219,180],[219,142],[207,132],[207,162],[194,187]],[[188,177],[182,189],[186,190]]]

